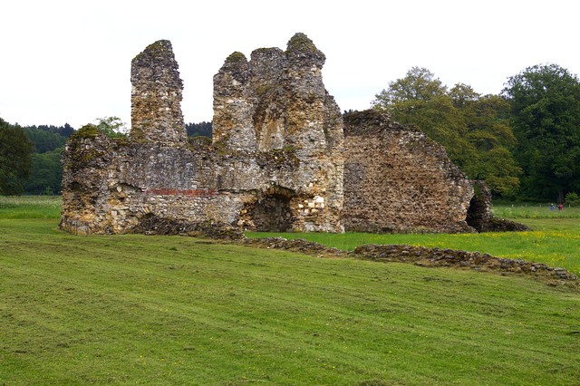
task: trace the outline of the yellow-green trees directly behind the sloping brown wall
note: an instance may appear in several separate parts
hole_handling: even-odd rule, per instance
[[[425,132],[469,178],[485,180],[495,195],[517,193],[521,169],[511,153],[516,138],[503,98],[481,96],[463,83],[448,90],[429,70],[413,67],[376,95],[373,108]]]

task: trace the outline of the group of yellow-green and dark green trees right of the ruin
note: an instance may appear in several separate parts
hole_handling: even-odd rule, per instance
[[[413,67],[373,108],[440,142],[470,179],[499,198],[572,203],[580,192],[580,82],[557,64],[528,67],[498,95],[448,88]]]

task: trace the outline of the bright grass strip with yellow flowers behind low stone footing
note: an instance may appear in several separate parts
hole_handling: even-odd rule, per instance
[[[498,206],[498,214],[510,213],[510,219],[526,224],[528,232],[480,234],[383,234],[345,233],[269,233],[247,232],[249,237],[282,236],[304,238],[325,246],[353,250],[363,244],[407,244],[478,251],[492,256],[522,258],[528,261],[563,267],[580,275],[580,208],[566,207],[562,212],[525,205]]]

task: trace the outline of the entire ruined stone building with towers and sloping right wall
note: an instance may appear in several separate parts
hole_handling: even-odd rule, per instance
[[[343,118],[324,88],[324,61],[304,34],[249,61],[232,53],[214,76],[213,139],[188,140],[171,44],[150,44],[131,63],[129,138],[87,125],[65,147],[60,227],[211,236],[492,229],[488,197],[474,194],[440,145],[377,111]]]

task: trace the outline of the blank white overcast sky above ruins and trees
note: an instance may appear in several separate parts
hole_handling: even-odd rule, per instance
[[[285,49],[296,32],[326,54],[324,84],[341,110],[370,107],[415,65],[449,87],[498,93],[538,63],[580,72],[579,11],[577,0],[2,0],[0,117],[130,125],[131,59],[169,39],[185,121],[211,121],[213,75],[227,56]]]

